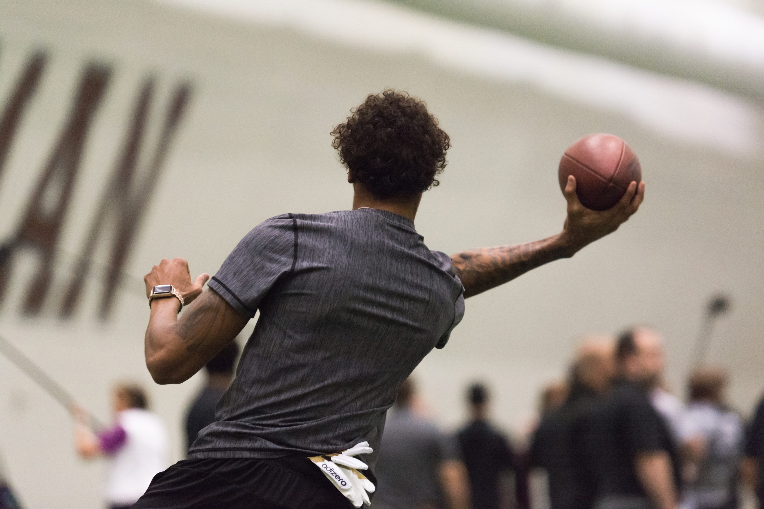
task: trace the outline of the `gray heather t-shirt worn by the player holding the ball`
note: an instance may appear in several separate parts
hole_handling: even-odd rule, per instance
[[[209,287],[260,317],[189,458],[336,453],[368,441],[424,356],[461,321],[464,288],[406,217],[377,209],[257,225]]]

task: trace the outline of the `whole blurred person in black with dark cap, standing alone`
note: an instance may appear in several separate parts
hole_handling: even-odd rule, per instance
[[[472,385],[467,391],[467,401],[471,421],[459,431],[457,440],[469,474],[472,509],[511,507],[506,477],[511,472],[518,477],[517,458],[507,437],[488,420],[486,386]]]

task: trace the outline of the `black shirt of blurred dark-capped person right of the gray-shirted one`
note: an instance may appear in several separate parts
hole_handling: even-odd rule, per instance
[[[470,477],[472,509],[497,509],[500,507],[500,475],[515,468],[507,437],[486,420],[474,420],[457,438]]]

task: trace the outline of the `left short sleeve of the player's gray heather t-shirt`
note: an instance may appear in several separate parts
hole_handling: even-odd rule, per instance
[[[254,227],[210,279],[209,288],[236,311],[254,317],[274,283],[294,269],[296,219],[291,214],[271,217]]]

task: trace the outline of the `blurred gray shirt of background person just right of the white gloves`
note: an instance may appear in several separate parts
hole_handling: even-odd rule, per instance
[[[377,462],[377,495],[373,507],[419,509],[443,507],[439,468],[457,459],[455,441],[406,408],[387,417]]]

